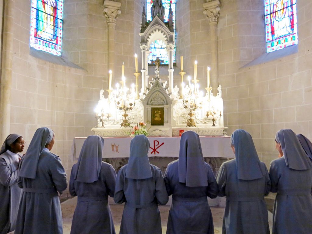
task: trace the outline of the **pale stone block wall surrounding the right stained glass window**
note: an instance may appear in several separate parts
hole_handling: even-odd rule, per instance
[[[265,53],[263,5],[261,0],[222,1],[219,83],[228,134],[237,128],[249,131],[259,157],[269,166],[278,155],[274,137],[279,129],[312,139],[312,2],[297,1],[297,53],[242,68]]]

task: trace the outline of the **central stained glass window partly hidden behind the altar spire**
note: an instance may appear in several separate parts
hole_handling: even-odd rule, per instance
[[[151,7],[153,5],[154,0],[147,0],[146,2],[146,18],[148,21],[152,20],[152,14],[151,14]],[[172,18],[173,18],[173,28],[175,31],[175,6],[176,6],[176,0],[163,0],[163,7],[165,8],[165,17],[164,21],[168,22],[168,16],[169,16],[169,8],[171,4],[171,11],[172,11]],[[175,43],[175,42],[174,42]],[[151,64],[151,61],[154,61],[156,57],[159,57],[160,60],[163,60],[164,62],[161,64],[168,64],[168,54],[166,51],[166,44],[163,41],[156,40],[151,43],[149,47],[149,64]],[[176,47],[174,46],[173,49],[173,63],[176,62]]]

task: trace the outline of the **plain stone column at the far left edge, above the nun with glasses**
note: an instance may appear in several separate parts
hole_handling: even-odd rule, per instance
[[[2,70],[0,86],[0,141],[10,134],[14,1],[3,1]]]

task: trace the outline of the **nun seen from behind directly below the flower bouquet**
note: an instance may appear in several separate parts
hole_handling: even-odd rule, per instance
[[[158,204],[168,195],[160,169],[149,163],[149,139],[136,135],[130,143],[128,164],[120,168],[114,201],[124,204],[120,234],[161,234]]]

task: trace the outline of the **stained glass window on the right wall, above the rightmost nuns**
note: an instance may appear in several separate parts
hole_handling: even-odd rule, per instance
[[[296,0],[265,0],[266,51],[298,44]]]

